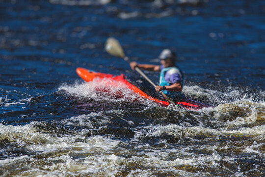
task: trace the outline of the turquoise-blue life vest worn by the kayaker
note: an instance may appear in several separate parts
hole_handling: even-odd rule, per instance
[[[170,71],[171,70],[171,71]],[[173,67],[166,67],[166,68],[163,68],[162,70],[161,70],[161,72],[160,72],[160,78],[159,78],[159,85],[160,86],[170,86],[170,85],[172,85],[172,84],[174,84],[174,83],[168,83],[168,82],[166,82],[166,80],[165,80],[165,74],[166,74],[166,72],[172,72],[172,73],[177,73],[177,74],[179,74],[180,76],[181,76],[181,78],[182,78],[182,80],[181,80],[181,85],[182,85],[182,87],[184,86],[183,84],[184,84],[184,77],[183,77],[183,74],[182,74],[182,72],[180,71],[180,69],[178,68],[178,67],[176,67],[176,66],[173,66]],[[164,92],[167,96],[169,96],[169,97],[172,97],[172,98],[174,98],[174,97],[179,97],[179,96],[181,96],[182,94],[181,94],[181,91],[168,91],[168,90],[162,90],[162,92]]]

